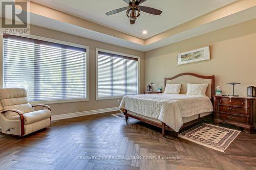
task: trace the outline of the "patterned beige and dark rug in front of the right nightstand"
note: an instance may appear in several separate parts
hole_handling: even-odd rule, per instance
[[[224,152],[240,131],[219,126],[200,124],[179,134],[179,137]]]

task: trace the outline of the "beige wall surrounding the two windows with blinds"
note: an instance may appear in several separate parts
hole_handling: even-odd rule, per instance
[[[118,107],[119,103],[117,103],[117,99],[111,100],[99,100],[96,101],[96,48],[102,48],[105,50],[115,51],[124,54],[130,54],[139,56],[140,58],[140,90],[143,91],[144,87],[144,53],[131,50],[129,48],[124,48],[104,42],[99,42],[87,38],[82,38],[54,30],[49,30],[37,26],[30,27],[30,34],[72,42],[81,45],[89,46],[90,54],[89,54],[89,97],[90,101],[87,102],[73,102],[73,103],[60,103],[60,104],[50,104],[53,115],[65,114],[65,113],[73,113],[73,112],[81,112],[81,111],[89,111],[89,110],[97,110],[104,108],[112,108]],[[1,42],[2,43],[2,42]],[[2,44],[0,44],[2,47]],[[2,48],[0,48],[2,54]],[[2,70],[2,69],[1,69]]]

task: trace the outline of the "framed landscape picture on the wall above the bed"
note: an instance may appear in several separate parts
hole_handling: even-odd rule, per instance
[[[210,46],[178,54],[178,65],[210,60]]]

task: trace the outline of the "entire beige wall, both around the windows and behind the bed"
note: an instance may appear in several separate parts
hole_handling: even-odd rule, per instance
[[[256,19],[146,53],[37,26],[31,26],[31,34],[90,47],[90,101],[50,104],[53,115],[118,107],[117,99],[96,101],[96,48],[140,56],[140,92],[147,83],[155,82],[155,87],[163,86],[164,77],[181,72],[215,75],[216,86],[222,86],[225,94],[231,93],[231,86],[226,85],[227,82],[242,83],[236,87],[240,95],[246,95],[248,85],[256,86]],[[210,61],[177,65],[178,53],[205,45],[211,46]]]

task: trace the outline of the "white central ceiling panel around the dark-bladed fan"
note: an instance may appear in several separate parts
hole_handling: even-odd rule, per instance
[[[135,25],[130,25],[125,11],[111,16],[105,15],[106,12],[127,6],[122,0],[31,1],[147,39],[237,0],[147,0],[142,4],[143,6],[157,8],[163,12],[160,16],[142,12]],[[143,30],[148,34],[143,35]]]

